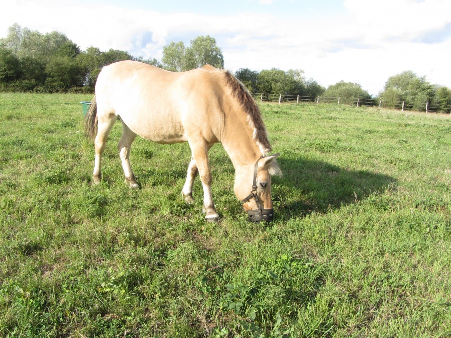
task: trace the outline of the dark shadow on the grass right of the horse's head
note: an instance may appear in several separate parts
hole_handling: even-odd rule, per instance
[[[304,158],[278,159],[283,177],[273,179],[278,218],[288,220],[312,212],[326,213],[396,187],[393,177],[353,171]]]

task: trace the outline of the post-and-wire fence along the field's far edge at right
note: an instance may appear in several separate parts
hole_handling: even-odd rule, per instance
[[[424,103],[421,107],[399,102],[384,102],[383,100],[375,99],[360,99],[360,98],[340,98],[340,97],[325,97],[325,96],[302,96],[302,95],[282,95],[282,94],[265,94],[265,93],[251,93],[253,98],[260,102],[278,102],[281,103],[336,103],[337,105],[344,104],[350,106],[372,106],[379,108],[399,109],[401,111],[420,111],[426,113],[444,113],[451,114],[451,105],[432,105],[429,102]]]

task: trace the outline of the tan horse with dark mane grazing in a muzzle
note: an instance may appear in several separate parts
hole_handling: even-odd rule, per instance
[[[118,118],[122,122],[119,156],[131,188],[139,187],[130,165],[136,135],[160,144],[188,142],[191,161],[182,197],[187,203],[194,201],[192,187],[199,174],[205,219],[217,221],[208,150],[221,143],[235,169],[234,193],[249,219],[273,219],[271,176],[281,175],[279,154],[268,155],[271,145],[260,109],[229,71],[205,65],[170,72],[137,61],[103,67],[85,116],[86,135],[95,137],[94,184],[101,181],[102,153]]]

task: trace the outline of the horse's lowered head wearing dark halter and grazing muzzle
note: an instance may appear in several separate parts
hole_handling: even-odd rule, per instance
[[[255,165],[244,166],[235,178],[235,195],[243,203],[249,220],[253,222],[273,219],[273,202],[271,200],[271,175],[280,175],[276,163],[279,154],[260,157]]]

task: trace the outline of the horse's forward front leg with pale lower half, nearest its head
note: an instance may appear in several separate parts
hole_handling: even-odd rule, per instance
[[[193,159],[191,159],[190,167],[197,166],[197,170],[200,175],[200,181],[203,188],[203,212],[205,213],[205,219],[207,221],[217,221],[219,215],[216,212],[213,203],[213,197],[211,195],[211,173],[210,164],[208,163],[208,149],[210,148],[205,142],[189,142],[191,147]],[[189,174],[188,174],[189,176]],[[195,177],[195,176],[194,176]],[[194,179],[194,178],[192,178]],[[189,178],[186,178],[188,186],[190,186],[192,195],[192,182],[188,182]],[[186,185],[186,183],[185,183]]]

